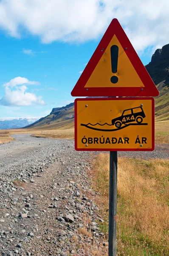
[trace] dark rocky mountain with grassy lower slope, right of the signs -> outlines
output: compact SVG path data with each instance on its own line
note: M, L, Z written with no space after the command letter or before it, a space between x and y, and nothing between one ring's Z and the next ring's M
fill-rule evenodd
M155 97L155 120L169 120L169 44L155 51L146 70L160 91Z

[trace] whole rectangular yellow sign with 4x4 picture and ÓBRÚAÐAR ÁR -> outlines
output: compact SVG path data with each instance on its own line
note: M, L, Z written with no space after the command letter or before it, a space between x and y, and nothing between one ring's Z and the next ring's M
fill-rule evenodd
M153 151L152 97L75 100L75 149Z

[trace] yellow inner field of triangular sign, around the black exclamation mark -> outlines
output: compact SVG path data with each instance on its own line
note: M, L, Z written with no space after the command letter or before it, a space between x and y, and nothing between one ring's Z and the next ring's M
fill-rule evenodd
M118 84L111 82L111 77L114 76L111 67L111 54L110 48L113 45L118 46L118 66L116 76ZM138 73L135 71L128 58L125 50L122 48L118 38L114 35L109 45L105 49L104 54L100 58L97 66L93 70L85 87L144 87Z

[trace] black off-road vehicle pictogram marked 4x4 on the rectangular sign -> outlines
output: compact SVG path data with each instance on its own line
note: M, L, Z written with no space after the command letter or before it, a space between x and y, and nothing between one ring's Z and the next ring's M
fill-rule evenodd
M120 128L122 124L126 124L129 122L137 122L141 124L143 122L143 118L146 117L143 108L129 108L125 109L121 116L112 119L112 125L115 125L116 128Z

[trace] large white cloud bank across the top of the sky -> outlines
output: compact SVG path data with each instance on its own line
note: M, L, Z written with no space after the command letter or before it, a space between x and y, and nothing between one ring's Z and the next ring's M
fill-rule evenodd
M43 43L99 38L113 17L137 51L169 43L168 0L0 1L1 29L15 38L22 37L25 29Z

